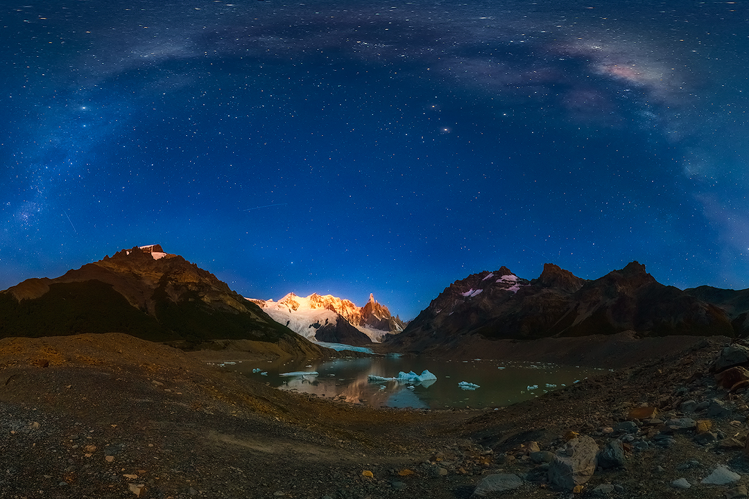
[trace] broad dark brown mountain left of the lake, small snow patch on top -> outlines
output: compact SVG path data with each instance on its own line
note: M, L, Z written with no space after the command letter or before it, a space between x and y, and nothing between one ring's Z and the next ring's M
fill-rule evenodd
M292 334L215 275L159 245L118 251L0 293L0 337L121 332L155 341L276 342Z

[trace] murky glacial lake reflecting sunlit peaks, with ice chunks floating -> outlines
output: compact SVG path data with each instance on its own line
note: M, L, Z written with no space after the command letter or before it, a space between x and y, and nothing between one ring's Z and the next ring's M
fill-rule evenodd
M474 359L443 361L421 357L338 358L314 361L243 361L217 364L267 382L280 390L339 397L347 402L394 408L485 408L510 405L538 397L601 373L584 367L546 363L520 363ZM253 370L255 372L253 372ZM421 374L428 370L436 380L403 382L373 381L369 375L398 377L403 371ZM288 373L295 374L280 376ZM478 385L473 390L458 383Z

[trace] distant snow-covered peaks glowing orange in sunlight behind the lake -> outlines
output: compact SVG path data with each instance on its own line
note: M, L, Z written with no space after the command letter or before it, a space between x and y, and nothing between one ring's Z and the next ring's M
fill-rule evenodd
M276 322L313 341L365 346L379 343L386 334L403 331L404 323L371 293L363 307L331 295L301 297L288 293L279 301L251 300Z

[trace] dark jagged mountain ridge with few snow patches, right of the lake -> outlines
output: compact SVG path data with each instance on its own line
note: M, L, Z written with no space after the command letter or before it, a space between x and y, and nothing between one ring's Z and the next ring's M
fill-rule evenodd
M422 352L471 335L533 340L634 331L641 337L739 337L749 332L748 311L749 290L679 290L658 283L636 261L591 281L552 263L531 281L503 266L455 281L386 342Z

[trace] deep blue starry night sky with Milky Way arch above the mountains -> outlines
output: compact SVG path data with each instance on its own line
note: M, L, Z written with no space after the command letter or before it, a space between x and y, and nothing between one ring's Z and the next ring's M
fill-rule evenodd
M156 243L404 319L503 265L749 287L746 1L0 12L0 289Z

